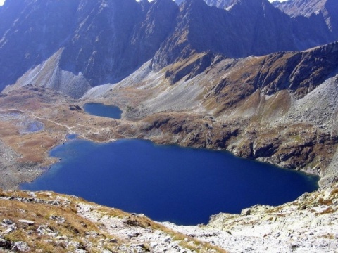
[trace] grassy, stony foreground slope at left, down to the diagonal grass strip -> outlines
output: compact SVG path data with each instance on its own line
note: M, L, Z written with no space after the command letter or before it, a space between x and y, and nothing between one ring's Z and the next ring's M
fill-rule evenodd
M225 252L142 214L78 197L0 193L0 252Z

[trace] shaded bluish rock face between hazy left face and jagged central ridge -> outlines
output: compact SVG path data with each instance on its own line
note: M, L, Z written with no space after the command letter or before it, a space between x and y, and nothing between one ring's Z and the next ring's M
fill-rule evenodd
M82 72L91 86L117 82L136 70L154 56L178 12L168 0L143 7L134 0L82 1L61 68Z

